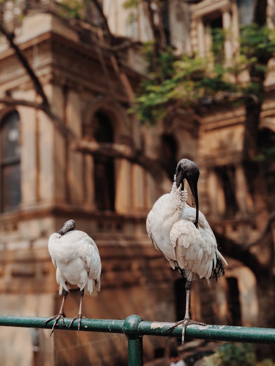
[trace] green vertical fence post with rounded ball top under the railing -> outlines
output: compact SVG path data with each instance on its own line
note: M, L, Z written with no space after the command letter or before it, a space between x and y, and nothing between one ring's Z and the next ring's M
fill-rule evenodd
M138 335L141 321L138 315L130 315L123 322L123 331L128 338L128 366L143 366L142 336Z

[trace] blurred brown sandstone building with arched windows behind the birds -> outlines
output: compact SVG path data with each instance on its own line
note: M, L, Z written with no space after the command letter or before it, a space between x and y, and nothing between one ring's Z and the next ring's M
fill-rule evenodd
M122 2L103 1L110 30L121 41L125 37L150 40L143 9L129 24ZM167 1L162 21L170 44L176 52L203 56L211 47L211 27L230 27L234 37L225 41L230 60L240 18L250 14L241 3L251 10L250 1L204 0L192 6ZM15 10L7 7L6 17L13 19ZM272 1L269 14L272 22ZM119 51L118 67L92 33L91 29L79 32L53 14L39 11L25 16L15 29L15 41L39 77L53 111L83 145L135 146L158 159L171 179L179 159L196 161L201 170L200 209L219 235L221 251L223 238L240 245L254 243L266 229L268 211L260 197L258 202L252 200L244 176L244 108L217 106L197 120L186 112L169 124L140 127L127 109L145 70L141 56L135 47ZM84 40L89 37L87 47ZM98 33L96 40L100 40ZM274 81L272 75L266 81L263 139L275 132ZM0 38L0 95L39 100L4 37ZM64 221L74 219L77 229L96 241L102 258L102 291L96 297L85 296L85 316L124 319L136 313L144 320L168 322L183 318L184 280L159 256L146 233L148 211L162 194L147 171L127 159L77 150L46 114L22 105L0 105L0 141L1 314L47 317L58 312L61 298L47 240ZM256 245L255 251L262 264L270 261L268 243ZM233 258L228 262L225 277L217 283L194 281L193 319L270 326L269 293L259 292L251 268ZM66 316L77 314L78 301L79 293L72 290ZM164 338L144 337L145 359L152 360L166 344ZM123 335L55 331L50 338L48 330L1 328L0 345L3 365L127 364Z

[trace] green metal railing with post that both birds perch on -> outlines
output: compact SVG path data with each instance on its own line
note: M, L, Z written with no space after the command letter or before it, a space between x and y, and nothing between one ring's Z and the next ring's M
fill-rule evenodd
M51 329L54 321L43 324L45 320L47 318L0 316L0 325ZM68 328L70 321L71 319L65 318L63 325L59 320L56 329L77 330L77 322L70 329ZM142 366L142 337L144 335L155 335L181 338L182 326L168 331L171 325L172 323L143 321L138 315L130 315L125 320L82 319L80 330L88 332L124 333L128 339L128 365ZM275 344L275 329L272 328L189 325L186 328L185 334L186 337L213 341Z

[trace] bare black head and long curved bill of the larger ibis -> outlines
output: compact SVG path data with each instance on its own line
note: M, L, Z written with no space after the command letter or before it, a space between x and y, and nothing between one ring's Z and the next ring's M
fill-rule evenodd
M179 187L181 183L182 189L184 189L184 179L187 180L190 186L196 204L196 220L194 222L196 227L198 227L199 217L199 200L197 190L199 175L200 171L196 163L192 162L189 159L182 159L178 162L175 174L176 186Z

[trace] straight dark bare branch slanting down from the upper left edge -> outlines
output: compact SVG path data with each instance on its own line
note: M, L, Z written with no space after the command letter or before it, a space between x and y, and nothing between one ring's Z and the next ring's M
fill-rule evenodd
M25 58L25 56L22 54L22 52L21 52L20 48L18 47L18 45L14 43L13 36L8 33L8 31L5 29L5 27L3 26L3 24L1 22L0 22L0 32L6 37L6 39L9 42L11 48L14 49L19 61L21 62L22 66L26 70L29 77L31 78L31 80L34 84L35 90L41 96L43 104L45 106L49 106L49 102L47 100L47 97L44 93L44 90L42 88L42 85L41 85L38 77L35 75L33 69L29 65L29 63L28 63L27 59Z

